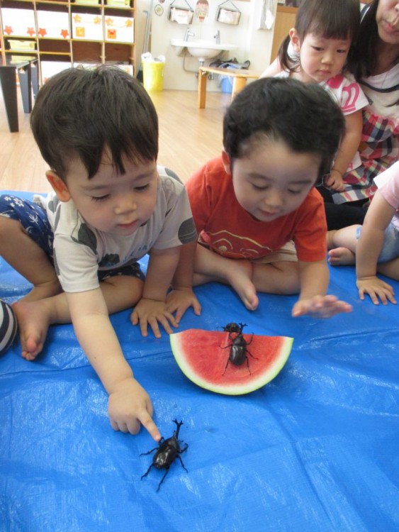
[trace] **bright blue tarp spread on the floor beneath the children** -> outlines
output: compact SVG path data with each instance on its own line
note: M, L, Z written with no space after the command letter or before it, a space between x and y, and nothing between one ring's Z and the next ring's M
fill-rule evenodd
M0 261L12 302L29 285ZM229 287L196 289L202 314L181 330L242 321L295 338L281 373L245 396L196 387L166 333L142 338L129 311L111 316L162 435L184 421L188 472L176 460L159 492L163 470L140 480L154 441L112 430L72 326L52 326L35 362L17 341L0 357L0 531L398 531L398 306L359 301L353 267L330 272L354 310L325 321L291 318L295 297L261 294L250 312Z

